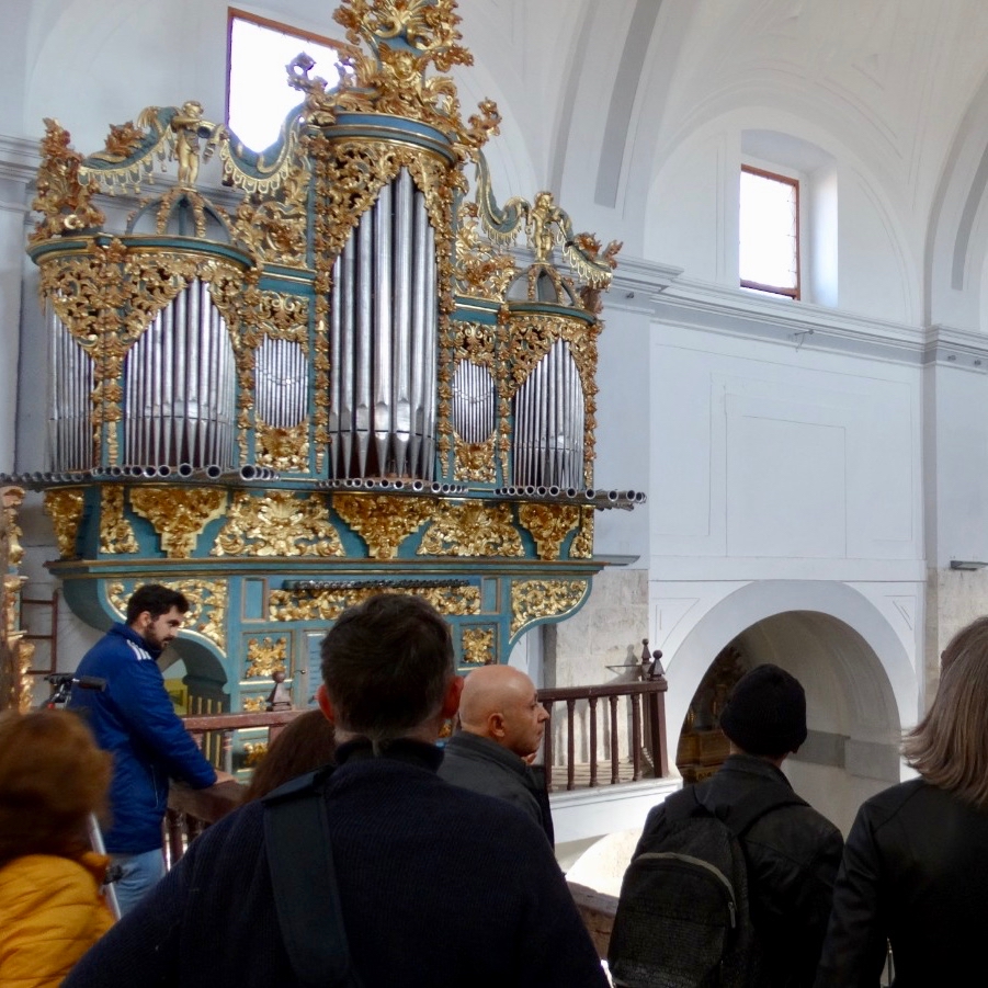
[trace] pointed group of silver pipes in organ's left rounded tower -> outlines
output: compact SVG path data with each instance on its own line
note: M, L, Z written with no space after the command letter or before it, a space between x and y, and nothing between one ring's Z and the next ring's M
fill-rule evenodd
M208 286L193 281L127 354L125 462L232 467L235 422L229 333Z

